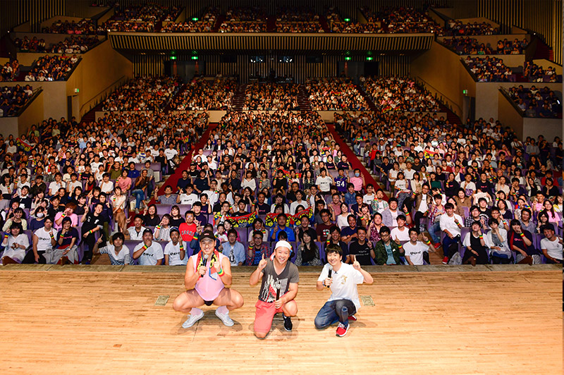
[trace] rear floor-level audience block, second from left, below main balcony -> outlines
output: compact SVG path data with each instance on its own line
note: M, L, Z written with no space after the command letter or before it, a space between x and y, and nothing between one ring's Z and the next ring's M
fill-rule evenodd
M172 107L180 111L231 109L235 90L235 80L193 78L185 85L184 91L174 97Z

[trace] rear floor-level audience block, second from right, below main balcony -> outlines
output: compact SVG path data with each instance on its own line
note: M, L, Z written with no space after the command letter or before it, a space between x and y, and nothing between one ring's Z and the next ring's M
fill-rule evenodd
M369 108L350 78L308 78L305 91L314 111L366 111Z

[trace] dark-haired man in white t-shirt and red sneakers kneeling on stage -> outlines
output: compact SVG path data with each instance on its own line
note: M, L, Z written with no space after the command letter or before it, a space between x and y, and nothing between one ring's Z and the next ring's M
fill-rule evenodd
M343 250L331 244L325 250L327 262L317 278L317 290L331 288L331 297L315 316L315 328L325 328L339 322L337 336L347 334L349 320L356 321L354 315L360 309L357 284L372 284L374 279L370 273L360 268L358 262L346 264L342 262Z

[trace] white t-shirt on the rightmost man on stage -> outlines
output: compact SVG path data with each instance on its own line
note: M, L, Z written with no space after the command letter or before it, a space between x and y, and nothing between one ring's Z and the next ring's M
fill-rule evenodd
M329 263L325 264L317 281L323 282L329 276L329 266L331 266ZM327 302L350 300L353 301L358 311L360 309L360 301L358 300L357 284L364 282L362 273L354 269L351 264L341 263L341 268L338 271L333 270L331 272L331 278L333 278L333 283L331 283L330 287L331 297L329 297Z

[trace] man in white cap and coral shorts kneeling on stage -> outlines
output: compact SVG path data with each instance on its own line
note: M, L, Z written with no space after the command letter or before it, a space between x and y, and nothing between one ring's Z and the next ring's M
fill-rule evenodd
M284 329L292 331L291 316L298 314L295 296L298 294L300 275L298 267L288 262L292 246L287 241L278 241L274 253L268 259L262 256L259 266L251 274L249 283L255 285L262 279L259 300L255 305L255 336L265 338L269 334L272 320L277 312L282 313Z

